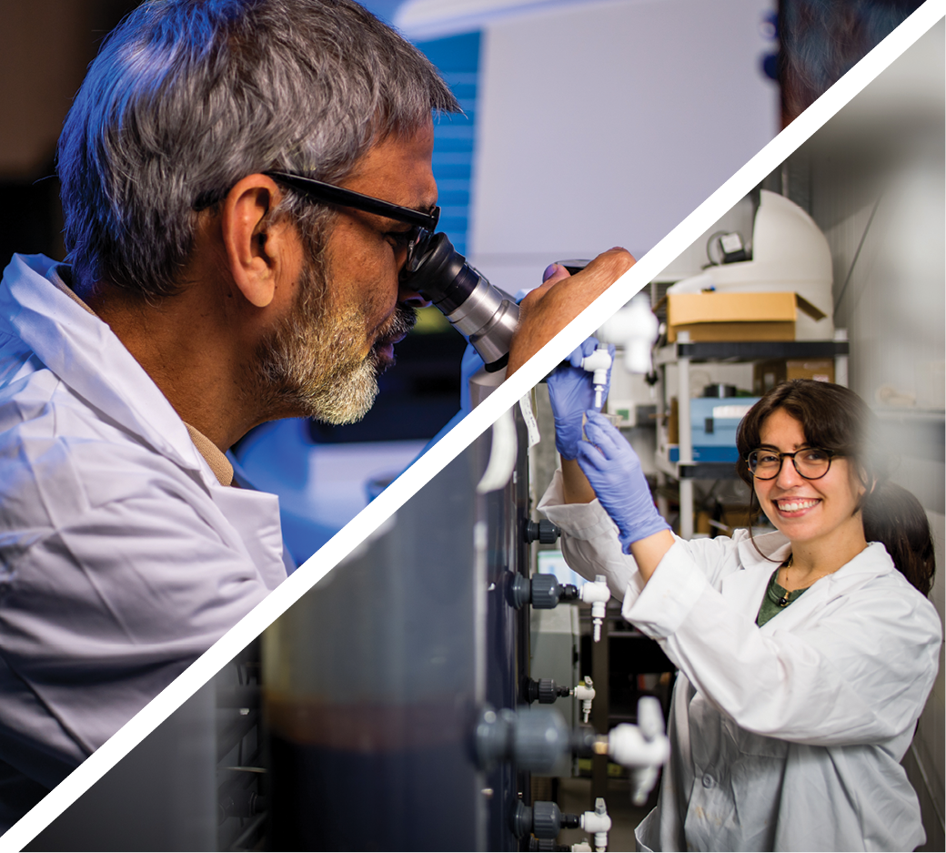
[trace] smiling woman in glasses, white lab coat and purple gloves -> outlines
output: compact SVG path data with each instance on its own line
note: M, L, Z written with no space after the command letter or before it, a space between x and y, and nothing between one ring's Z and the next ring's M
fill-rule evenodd
M549 380L553 409L566 373ZM586 414L588 440L539 508L569 565L605 575L679 667L639 849L921 844L900 761L937 673L933 542L888 482L867 405L826 382L769 391L740 425L738 472L777 530L692 542L660 519L622 435Z

